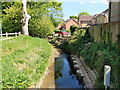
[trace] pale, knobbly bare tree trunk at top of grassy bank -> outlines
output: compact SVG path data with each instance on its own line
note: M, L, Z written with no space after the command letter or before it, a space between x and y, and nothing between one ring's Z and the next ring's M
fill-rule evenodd
M23 18L21 20L21 22L22 22L22 34L23 35L29 35L28 20L30 19L31 16L27 14L26 0L22 0L22 9L23 9Z

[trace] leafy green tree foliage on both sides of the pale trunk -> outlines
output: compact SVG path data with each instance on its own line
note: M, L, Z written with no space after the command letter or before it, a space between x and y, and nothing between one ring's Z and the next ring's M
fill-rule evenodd
M19 2L3 3L2 27L4 32L20 32L22 4ZM29 34L45 38L53 33L54 27L61 21L62 4L58 2L28 2Z

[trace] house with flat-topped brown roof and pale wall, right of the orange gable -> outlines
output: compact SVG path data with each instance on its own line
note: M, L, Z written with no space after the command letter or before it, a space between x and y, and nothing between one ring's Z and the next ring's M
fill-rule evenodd
M79 16L79 28L86 27L91 23L93 16L81 15Z

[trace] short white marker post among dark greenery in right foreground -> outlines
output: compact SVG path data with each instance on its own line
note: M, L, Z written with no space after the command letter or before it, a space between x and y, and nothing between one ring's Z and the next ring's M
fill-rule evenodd
M104 68L104 85L105 85L105 89L107 90L107 87L110 86L110 71L111 71L111 67L108 65L105 65Z

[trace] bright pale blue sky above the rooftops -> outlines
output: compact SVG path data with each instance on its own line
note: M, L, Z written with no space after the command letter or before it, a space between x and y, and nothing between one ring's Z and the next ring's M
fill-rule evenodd
M69 19L69 16L78 16L81 12L87 12L90 15L100 14L108 9L107 0L57 0L62 2L63 19Z

